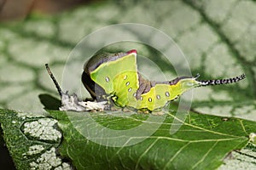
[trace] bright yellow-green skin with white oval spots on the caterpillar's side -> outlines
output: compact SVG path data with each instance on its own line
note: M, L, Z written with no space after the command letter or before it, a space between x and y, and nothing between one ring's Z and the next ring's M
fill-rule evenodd
M149 111L165 106L168 101L200 84L194 77L181 79L173 85L156 83L147 93L137 96L139 77L136 51L102 63L94 71L90 71L90 78L100 85L106 94L113 95L112 99L116 105Z

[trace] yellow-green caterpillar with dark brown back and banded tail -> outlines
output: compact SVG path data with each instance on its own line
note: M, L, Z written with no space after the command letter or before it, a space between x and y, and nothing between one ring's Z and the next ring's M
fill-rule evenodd
M137 51L95 55L84 65L82 82L92 99L106 100L110 96L115 105L137 110L154 111L191 88L228 84L241 81L239 77L199 81L195 77L177 77L172 81L155 82L144 79L137 71Z

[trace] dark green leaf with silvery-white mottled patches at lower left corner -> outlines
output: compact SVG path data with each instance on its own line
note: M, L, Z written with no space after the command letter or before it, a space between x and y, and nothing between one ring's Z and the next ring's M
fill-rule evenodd
M0 109L3 137L17 169L70 167L55 151L62 137L56 122L46 116Z

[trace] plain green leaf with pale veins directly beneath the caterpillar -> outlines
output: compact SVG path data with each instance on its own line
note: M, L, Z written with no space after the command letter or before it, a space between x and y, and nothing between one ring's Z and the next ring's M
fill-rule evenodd
M246 146L248 134L256 132L255 122L190 112L189 118L182 122L183 126L177 133L170 134L173 119L176 118L170 113L164 116L165 121L154 134L142 142L125 146L132 140L143 138L143 134L128 138L124 146L111 147L109 145L112 139L105 139L102 134L96 136L102 137L99 143L84 136L84 132L95 132L93 129L97 128L95 124L88 122L90 118L104 127L125 130L145 123L145 118L149 116L131 114L124 117L120 116L124 114L122 112L49 113L59 120L63 131L61 154L71 158L78 169L214 169L222 164L231 150L240 150ZM154 127L155 122L147 123ZM145 132L147 130L144 129ZM113 140L119 143L123 138L125 137L116 136ZM109 145L104 145L104 140L108 140Z

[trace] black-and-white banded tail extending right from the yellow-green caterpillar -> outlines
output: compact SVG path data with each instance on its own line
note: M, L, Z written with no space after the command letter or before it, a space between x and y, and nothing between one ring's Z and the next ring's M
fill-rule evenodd
M201 81L197 80L197 81L200 82L200 86L209 86L209 85L220 85L220 84L229 84L233 82L239 82L245 78L246 78L245 74L242 74L238 77L233 77L233 78L218 79L218 80L201 80Z

